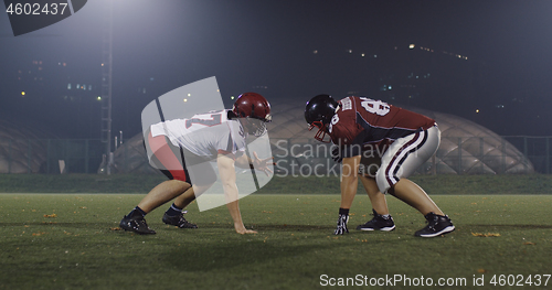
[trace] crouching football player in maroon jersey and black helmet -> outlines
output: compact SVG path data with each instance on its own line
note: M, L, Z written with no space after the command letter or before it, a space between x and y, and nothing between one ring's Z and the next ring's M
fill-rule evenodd
M424 190L407 180L437 151L440 131L435 120L381 100L347 97L336 101L329 95L310 99L305 108L305 119L309 130L318 128L317 140L331 141L336 146L332 157L342 162L341 206L336 235L349 232L349 208L357 194L359 178L372 203L374 217L357 229L395 228L388 210L386 193L425 216L427 226L417 230L415 236L435 237L455 229L450 218Z

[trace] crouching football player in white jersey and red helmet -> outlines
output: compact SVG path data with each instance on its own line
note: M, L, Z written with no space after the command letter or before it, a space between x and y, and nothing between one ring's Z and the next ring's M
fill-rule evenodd
M197 228L183 217L183 208L216 181L216 173L208 162L216 161L224 193L233 201L226 206L236 233L255 234L255 230L246 229L242 221L234 165L253 167L265 173L270 171L272 158L261 160L253 152L254 159L251 160L244 153L247 135L263 136L270 119L268 101L259 94L245 93L236 99L232 110L210 111L152 125L146 132L145 144L149 152L153 152L150 162L169 180L153 187L123 217L120 227L138 234L156 234L147 225L145 215L174 198L162 222L180 228ZM190 167L195 168L189 171Z

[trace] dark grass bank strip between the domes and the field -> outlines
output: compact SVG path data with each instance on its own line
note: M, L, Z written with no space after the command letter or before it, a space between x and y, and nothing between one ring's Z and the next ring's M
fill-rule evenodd
M0 193L147 193L162 174L0 174ZM550 174L414 175L428 194L552 194ZM256 194L339 193L337 176L277 176ZM359 186L359 193L363 193Z

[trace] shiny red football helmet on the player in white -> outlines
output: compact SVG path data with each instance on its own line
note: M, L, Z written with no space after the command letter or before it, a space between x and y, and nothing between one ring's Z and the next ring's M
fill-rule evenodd
M248 133L261 137L266 132L266 123L272 121L270 104L257 93L245 93L237 97L232 108Z

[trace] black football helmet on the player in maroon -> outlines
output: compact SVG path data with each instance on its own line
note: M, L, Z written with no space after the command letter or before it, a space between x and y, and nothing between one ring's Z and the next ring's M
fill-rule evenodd
M338 108L338 103L329 95L318 95L307 101L305 106L305 120L309 125L309 131L317 127L318 132L315 135L315 139L325 143L329 143L331 140L325 140L328 133L328 125L331 121L336 110Z

